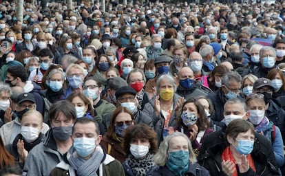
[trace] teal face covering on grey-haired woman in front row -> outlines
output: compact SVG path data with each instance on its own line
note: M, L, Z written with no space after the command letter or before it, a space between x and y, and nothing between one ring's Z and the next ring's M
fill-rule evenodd
M187 172L189 167L189 151L171 151L168 153L169 157L165 165L172 173L183 175Z

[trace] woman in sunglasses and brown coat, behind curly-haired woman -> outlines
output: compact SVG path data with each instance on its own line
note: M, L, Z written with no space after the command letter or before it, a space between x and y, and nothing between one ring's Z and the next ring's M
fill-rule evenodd
M128 126L134 125L134 116L126 107L117 107L112 113L111 121L107 133L101 140L101 146L115 159L124 162L127 158L123 151L123 132Z

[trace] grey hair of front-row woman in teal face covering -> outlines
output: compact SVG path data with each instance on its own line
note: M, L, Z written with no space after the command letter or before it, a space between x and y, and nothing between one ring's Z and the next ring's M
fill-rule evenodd
M169 142L173 137L184 137L185 140L187 140L187 144L188 144L188 151L189 151L189 159L191 164L194 164L197 162L196 159L196 155L193 152L193 148L191 145L191 142L189 140L189 137L187 137L187 135L184 135L184 133L181 132L174 132L171 133L170 135L167 135L167 137L165 137L165 140L163 140L163 142L160 144L160 148L158 150L158 153L156 153L156 155L154 155L154 163L157 164L158 166L165 166L166 162L167 162L167 153L168 153L168 149L169 149Z

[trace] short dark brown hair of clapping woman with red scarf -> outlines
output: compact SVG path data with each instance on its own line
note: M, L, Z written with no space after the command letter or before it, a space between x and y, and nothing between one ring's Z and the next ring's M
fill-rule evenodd
M249 130L251 130L251 132L254 134L255 129L251 122L242 119L235 119L226 127L224 134L225 136L229 135L230 137L235 138L239 133L245 133Z

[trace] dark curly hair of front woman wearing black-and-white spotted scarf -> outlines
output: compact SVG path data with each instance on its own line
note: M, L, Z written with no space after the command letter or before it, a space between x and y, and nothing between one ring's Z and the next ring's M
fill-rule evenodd
M129 147L131 144L131 140L133 139L146 139L149 140L150 148L149 152L156 153L158 149L156 132L147 124L135 124L127 127L125 129L124 134L124 143L123 149L127 155L129 155Z

